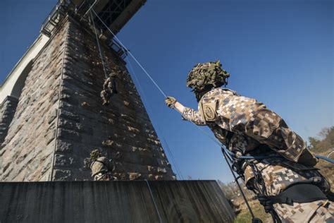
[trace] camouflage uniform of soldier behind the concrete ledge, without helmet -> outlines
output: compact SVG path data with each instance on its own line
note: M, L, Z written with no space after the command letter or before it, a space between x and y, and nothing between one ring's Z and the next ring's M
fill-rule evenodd
M94 181L105 181L111 179L112 164L106 157L99 157L90 164Z

